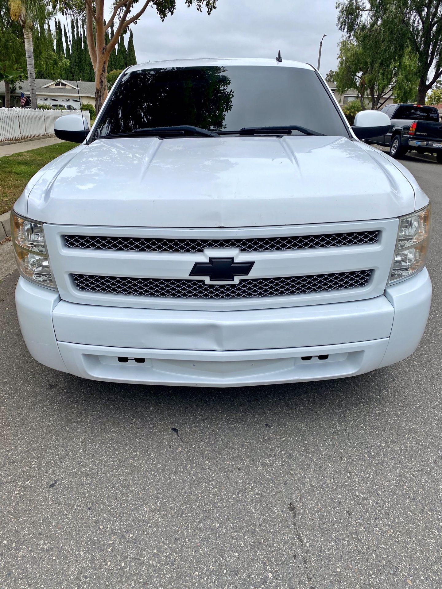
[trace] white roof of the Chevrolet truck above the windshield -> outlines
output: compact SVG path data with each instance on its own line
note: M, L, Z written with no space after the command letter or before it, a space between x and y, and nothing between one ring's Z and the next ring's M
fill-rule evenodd
M132 72L137 70L151 70L156 68L194 68L209 67L213 65L223 65L225 67L232 65L268 65L273 67L302 68L303 70L314 70L309 64L301 61L291 61L283 59L258 59L253 57L225 57L225 58L208 58L208 59L167 59L165 61L148 61L145 64L132 65L126 71Z

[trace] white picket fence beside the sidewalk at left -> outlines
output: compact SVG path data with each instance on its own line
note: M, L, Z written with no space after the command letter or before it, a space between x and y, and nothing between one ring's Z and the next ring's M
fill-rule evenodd
M31 110L29 108L0 108L0 141L15 141L54 134L54 123L58 117L78 114L80 111ZM83 111L89 123L90 113Z

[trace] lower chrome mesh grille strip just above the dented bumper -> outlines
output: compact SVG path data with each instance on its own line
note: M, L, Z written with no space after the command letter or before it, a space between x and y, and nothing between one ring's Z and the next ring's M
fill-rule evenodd
M241 299L319 293L355 289L370 282L372 270L256 278L240 280L238 284L206 284L203 280L174 280L162 278L128 278L123 276L92 276L72 274L78 290L97 293L176 299Z

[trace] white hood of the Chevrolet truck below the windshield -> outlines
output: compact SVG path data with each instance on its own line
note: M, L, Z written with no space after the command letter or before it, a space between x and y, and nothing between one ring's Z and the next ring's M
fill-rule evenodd
M42 168L16 210L57 224L250 227L387 219L414 207L410 182L379 151L299 135L94 141Z

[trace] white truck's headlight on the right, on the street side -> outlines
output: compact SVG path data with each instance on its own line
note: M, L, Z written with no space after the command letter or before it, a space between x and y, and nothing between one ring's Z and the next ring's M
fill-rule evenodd
M407 278L425 266L430 240L431 204L407 217L400 217L390 284Z

